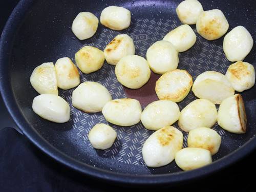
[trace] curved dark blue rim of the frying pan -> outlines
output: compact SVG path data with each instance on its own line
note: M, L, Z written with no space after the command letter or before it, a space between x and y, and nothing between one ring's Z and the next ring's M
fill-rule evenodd
M0 63L9 63L11 59L11 51L13 47L13 40L15 39L16 31L22 24L22 21L33 5L33 0L20 0L17 6L12 11L0 39ZM7 42L11 42L8 43ZM10 82L8 82L8 73L5 73L7 65L0 65L0 93L7 107L8 112L17 124L24 135L42 152L52 157L56 161L70 167L78 172L91 176L93 178L104 181L112 181L115 184L138 184L138 185L152 185L152 184L178 184L181 182L188 182L190 180L199 179L215 173L228 165L242 159L256 148L256 138L253 137L237 150L231 152L227 156L218 159L210 165L205 167L190 170L188 172L177 172L172 174L160 175L129 175L122 173L114 173L109 170L93 167L86 163L82 163L64 153L48 143L42 138L24 118L22 112L19 110L18 104L14 99L14 94Z

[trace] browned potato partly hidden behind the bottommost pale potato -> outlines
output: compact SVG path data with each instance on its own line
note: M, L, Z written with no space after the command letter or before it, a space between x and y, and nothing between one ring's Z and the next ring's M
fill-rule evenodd
M191 130L187 138L188 147L204 148L211 155L217 154L221 145L221 136L208 127Z

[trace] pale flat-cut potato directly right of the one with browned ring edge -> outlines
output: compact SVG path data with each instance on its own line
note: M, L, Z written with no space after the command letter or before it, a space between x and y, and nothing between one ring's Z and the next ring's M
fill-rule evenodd
M234 94L234 89L226 76L216 71L205 71L198 75L192 91L198 98L208 99L215 104L220 104Z

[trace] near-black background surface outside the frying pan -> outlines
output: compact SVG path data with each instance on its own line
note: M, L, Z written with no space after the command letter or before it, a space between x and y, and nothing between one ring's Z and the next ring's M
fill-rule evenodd
M0 0L1 32L17 2ZM120 191L129 187L120 188L74 172L43 154L23 135L8 127L16 125L0 96L0 191ZM255 163L254 152L219 173L176 187L199 191L223 190L223 187L228 187L249 191L254 186Z

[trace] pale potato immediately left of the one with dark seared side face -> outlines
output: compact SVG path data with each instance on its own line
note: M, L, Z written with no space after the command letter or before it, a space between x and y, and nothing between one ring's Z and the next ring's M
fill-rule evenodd
M185 132L198 127L212 127L217 121L217 115L214 103L206 99L196 99L181 110L178 124Z

